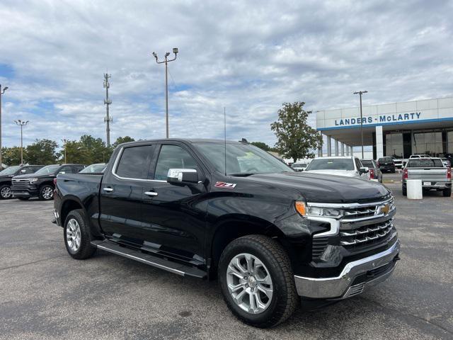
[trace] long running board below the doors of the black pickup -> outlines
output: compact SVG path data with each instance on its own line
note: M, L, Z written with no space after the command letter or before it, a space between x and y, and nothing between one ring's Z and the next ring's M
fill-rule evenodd
M127 248L125 246L120 246L116 242L108 240L95 240L91 241L91 245L96 246L96 248L98 249L108 251L109 253L124 256L127 259L132 259L148 264L149 266L161 268L164 269L164 271L169 271L180 276L193 276L195 278L205 278L207 276L206 272L202 271L201 269L192 266L185 266L183 264L168 261L166 259L161 259L160 257L150 254L144 254L142 253L142 251Z

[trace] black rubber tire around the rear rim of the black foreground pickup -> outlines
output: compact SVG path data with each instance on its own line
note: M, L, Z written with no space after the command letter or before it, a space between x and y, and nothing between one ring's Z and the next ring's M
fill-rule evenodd
M67 238L67 233L69 230L69 221L71 223L72 220L75 220L77 225L79 225L80 230L80 242L79 247L77 249L71 249L69 244L69 240ZM84 260L88 259L89 257L93 256L96 251L96 248L90 244L91 241L91 233L90 227L88 224L88 219L86 218L85 212L82 209L72 210L66 217L64 221L64 245L66 246L66 250L68 251L69 255L72 256L74 259Z

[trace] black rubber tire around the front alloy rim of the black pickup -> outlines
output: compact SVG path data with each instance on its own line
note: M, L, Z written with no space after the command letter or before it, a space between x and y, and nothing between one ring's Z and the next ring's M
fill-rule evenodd
M273 296L268 307L259 314L252 314L241 309L234 302L228 290L226 280L229 263L236 255L243 253L256 256L268 269L272 279ZM218 276L226 305L236 317L246 324L260 328L274 327L288 319L299 304L288 255L282 245L270 237L248 235L232 241L220 256Z

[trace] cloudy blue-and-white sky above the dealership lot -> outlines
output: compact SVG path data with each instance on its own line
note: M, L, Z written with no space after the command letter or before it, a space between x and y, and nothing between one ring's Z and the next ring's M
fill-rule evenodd
M453 1L0 2L3 144L13 120L36 138L105 139L103 74L112 74L112 139L171 137L275 142L285 101L307 110L453 94ZM311 116L314 125L314 115Z

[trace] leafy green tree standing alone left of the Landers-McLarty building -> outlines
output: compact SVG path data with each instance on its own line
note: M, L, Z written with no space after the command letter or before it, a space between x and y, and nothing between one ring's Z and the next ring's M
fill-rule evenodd
M283 103L278 120L270 125L277 137L277 152L294 162L314 157L314 149L323 143L321 135L306 122L311 111L304 111L304 105L303 101Z

